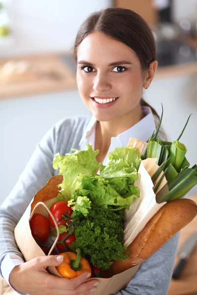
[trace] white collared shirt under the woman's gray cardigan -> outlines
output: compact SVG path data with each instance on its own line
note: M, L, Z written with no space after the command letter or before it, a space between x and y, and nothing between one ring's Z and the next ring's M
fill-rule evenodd
M142 107L142 112L144 114L144 118L142 118L139 122L134 124L129 129L120 133L118 136L111 138L110 147L102 162L103 165L106 165L108 163L108 156L111 151L113 151L115 148L127 147L130 137L137 138L144 142L148 142L153 131L156 129L155 121L150 107ZM93 150L95 150L96 126L97 119L93 116L90 119L84 131L84 134L79 142L80 150L83 150L85 145L87 144L92 145Z

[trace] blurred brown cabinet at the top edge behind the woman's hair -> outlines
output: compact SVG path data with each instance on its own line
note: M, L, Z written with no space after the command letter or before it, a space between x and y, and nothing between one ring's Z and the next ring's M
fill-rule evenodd
M158 12L153 0L113 0L114 7L135 11L153 28L158 22Z

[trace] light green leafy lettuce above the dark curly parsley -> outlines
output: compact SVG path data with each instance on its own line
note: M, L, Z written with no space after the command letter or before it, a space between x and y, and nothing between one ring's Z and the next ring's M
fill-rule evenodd
M141 159L138 150L132 147L116 148L109 154L110 162L99 164L91 145L84 150L72 149L73 153L55 155L53 167L64 177L60 184L61 195L73 205L73 210L88 214L92 205L110 207L113 210L129 208L133 198L139 197L139 190L133 186ZM100 175L95 171L100 166ZM55 200L56 202L56 200ZM91 205L92 204L92 205Z

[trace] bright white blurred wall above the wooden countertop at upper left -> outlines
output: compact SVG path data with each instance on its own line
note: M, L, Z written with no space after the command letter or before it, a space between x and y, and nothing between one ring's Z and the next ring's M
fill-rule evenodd
M69 50L77 29L111 0L17 0L8 6L15 43L0 47L0 57Z

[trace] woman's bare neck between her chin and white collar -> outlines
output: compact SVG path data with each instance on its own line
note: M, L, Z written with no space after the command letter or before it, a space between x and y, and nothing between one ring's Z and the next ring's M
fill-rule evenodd
M131 128L138 121L143 118L143 112L140 104L138 104L131 112L115 118L111 121L98 121L96 128L96 137L99 138L99 148L100 152L106 152L110 146L111 137L116 137L125 130ZM96 142L98 142L96 139Z

